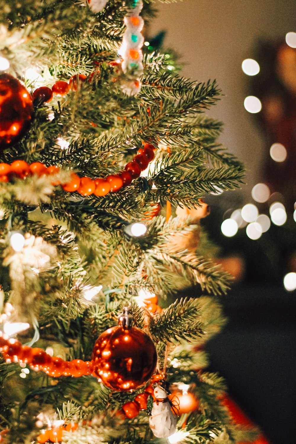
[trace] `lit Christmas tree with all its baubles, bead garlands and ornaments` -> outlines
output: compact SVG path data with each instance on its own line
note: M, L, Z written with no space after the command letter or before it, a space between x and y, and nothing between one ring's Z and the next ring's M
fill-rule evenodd
M231 277L202 198L244 175L216 82L144 50L150 2L1 6L0 441L252 440L205 370Z

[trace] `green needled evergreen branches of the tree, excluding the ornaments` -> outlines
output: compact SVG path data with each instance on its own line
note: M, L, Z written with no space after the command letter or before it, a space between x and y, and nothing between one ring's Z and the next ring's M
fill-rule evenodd
M158 205L198 209L205 194L241 185L241 163L217 143L221 122L201 114L221 91L216 81L178 75L169 53L146 52L139 95L124 95L108 62L117 58L129 2L109 0L98 14L81 3L0 1L1 56L30 92L37 80L29 78L28 68L49 87L95 71L77 91L35 103L29 131L0 152L0 162L58 165L55 179L65 182L71 171L91 178L118 173L144 142L154 145L155 158L146 177L103 197L66 193L48 176L0 182L0 313L9 301L12 321L30 323L19 336L23 343L50 346L65 360L89 360L97 337L117 325L122 306L129 305L135 324L155 342L158 370L173 386L189 384L199 400L199 410L178 422L181 441L241 442L253 435L233 424L219 400L225 382L203 370L207 356L196 349L224 323L216 296L226 293L231 277L206 258L207 247L210 254L214 248L199 223L155 216ZM143 17L152 15L146 0ZM60 138L67 142L64 149ZM136 221L147 226L138 238L128 232ZM201 253L172 249L172 234L196 230ZM26 238L20 251L10 246L12 232ZM174 301L188 285L196 286L197 297ZM169 306L151 315L139 301L140 289ZM48 420L78 422L77 430L64 432L63 443L163 442L154 439L146 412L130 420L118 415L143 388L118 393L92 376L51 378L30 371L21 379L20 371L18 364L0 361L0 425L9 429L7 442L35 443L38 418L45 428Z

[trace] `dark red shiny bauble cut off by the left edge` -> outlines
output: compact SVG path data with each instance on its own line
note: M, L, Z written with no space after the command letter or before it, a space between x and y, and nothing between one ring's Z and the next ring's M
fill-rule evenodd
M0 148L20 140L33 116L31 95L18 79L0 74Z

